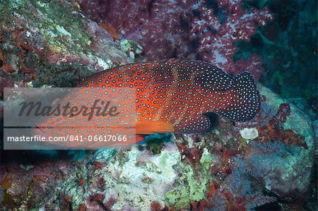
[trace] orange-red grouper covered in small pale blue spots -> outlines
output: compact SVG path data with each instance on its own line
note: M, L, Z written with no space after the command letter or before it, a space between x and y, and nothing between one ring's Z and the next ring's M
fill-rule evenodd
M232 121L248 121L260 108L259 92L251 73L245 71L232 77L205 61L170 59L128 64L90 76L79 87L134 88L136 142L151 133L208 131L211 121L204 115L208 112ZM83 90L78 90L75 96L80 94L84 99L91 95L81 93ZM75 101L76 97L72 100ZM67 99L68 102L72 100ZM50 133L54 128L54 123L50 122L56 123L57 118L42 121L41 126L50 128L40 133ZM69 124L71 119L65 116L61 121ZM77 121L83 123L83 118L79 116ZM102 122L94 132L101 130ZM92 133L91 130L88 128L85 133ZM71 133L71 129L63 128L59 132L63 135ZM84 133L83 130L81 133ZM100 134L107 135L107 132Z

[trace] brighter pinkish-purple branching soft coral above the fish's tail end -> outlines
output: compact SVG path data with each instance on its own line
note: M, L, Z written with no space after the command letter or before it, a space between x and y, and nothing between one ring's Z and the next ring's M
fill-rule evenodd
M250 56L249 60L234 61L237 52L235 42L249 39L256 32L256 25L265 25L273 16L266 8L245 10L242 0L219 0L218 11L212 8L200 8L200 16L192 21L190 35L192 40L199 40L197 52L202 59L216 64L228 73L236 75L242 71L250 71L257 80L263 68L261 58Z

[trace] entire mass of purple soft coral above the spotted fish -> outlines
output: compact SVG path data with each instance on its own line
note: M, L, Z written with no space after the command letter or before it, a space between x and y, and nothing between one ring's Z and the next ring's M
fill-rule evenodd
M165 0L78 2L93 20L107 22L121 37L139 42L147 59L203 59L233 75L250 71L256 80L264 71L257 54L237 61L233 56L237 51L235 42L249 42L256 25L273 19L266 8L247 9L242 1L225 0L213 5L206 1ZM193 51L198 54L193 55Z

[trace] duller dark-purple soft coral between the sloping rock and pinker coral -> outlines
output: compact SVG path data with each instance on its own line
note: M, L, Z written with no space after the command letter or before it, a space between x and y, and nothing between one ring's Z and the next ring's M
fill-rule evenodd
M119 36L143 46L148 59L189 56L187 21L193 1L80 1L82 10L96 22L107 22ZM105 6L107 5L107 6Z

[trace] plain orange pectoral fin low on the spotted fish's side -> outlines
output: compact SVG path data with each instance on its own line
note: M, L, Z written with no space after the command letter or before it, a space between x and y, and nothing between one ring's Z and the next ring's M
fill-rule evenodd
M137 121L136 134L172 133L173 126L165 121Z

